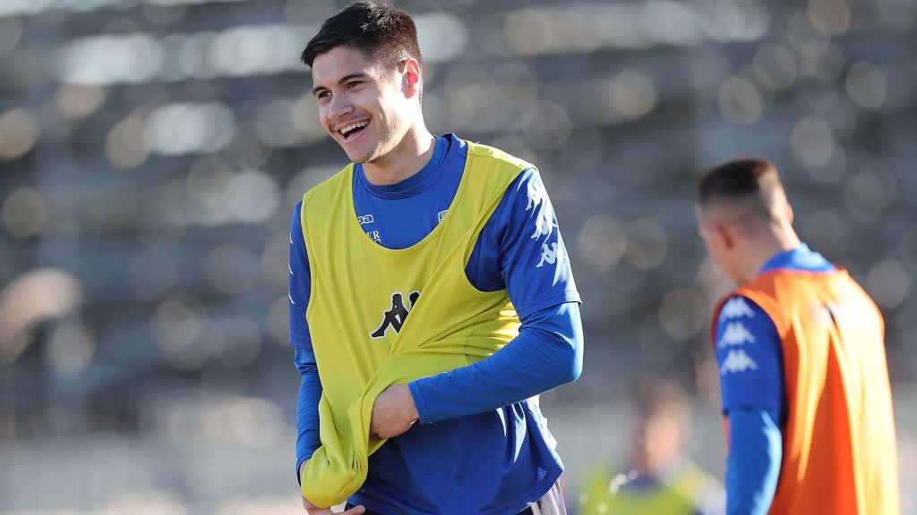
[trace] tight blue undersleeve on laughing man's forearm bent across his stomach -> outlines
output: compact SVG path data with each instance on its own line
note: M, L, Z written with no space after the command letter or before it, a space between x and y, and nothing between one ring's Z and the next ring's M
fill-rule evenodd
M582 370L580 305L565 302L529 315L493 356L409 384L421 423L496 410L575 381Z

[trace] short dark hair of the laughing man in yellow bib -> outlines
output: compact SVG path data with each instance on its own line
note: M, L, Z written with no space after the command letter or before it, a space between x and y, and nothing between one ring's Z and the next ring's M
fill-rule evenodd
M383 60L386 64L409 58L423 64L414 19L391 5L349 5L325 20L300 59L311 67L315 57L337 47L357 49L367 60Z

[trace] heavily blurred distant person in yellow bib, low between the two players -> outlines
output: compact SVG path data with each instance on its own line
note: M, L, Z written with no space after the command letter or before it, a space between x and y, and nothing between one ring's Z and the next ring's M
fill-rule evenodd
M723 486L682 453L691 433L690 401L668 381L637 385L629 472L602 464L586 478L580 515L714 515Z

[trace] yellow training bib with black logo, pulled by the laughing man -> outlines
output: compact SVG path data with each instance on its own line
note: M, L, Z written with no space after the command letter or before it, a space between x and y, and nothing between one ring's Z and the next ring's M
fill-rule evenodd
M317 506L343 502L367 477L372 406L382 390L468 366L519 333L506 290L482 292L465 266L503 193L532 165L468 144L462 180L446 216L423 240L381 247L359 225L353 164L303 199L312 276L306 320L322 398L322 445L304 468L303 495ZM410 317L408 314L410 313Z

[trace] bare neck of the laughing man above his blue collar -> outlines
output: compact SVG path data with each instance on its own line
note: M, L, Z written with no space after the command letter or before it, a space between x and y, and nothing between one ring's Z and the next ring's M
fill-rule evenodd
M412 128L392 151L363 164L367 181L377 186L404 181L433 159L436 137L425 126Z

